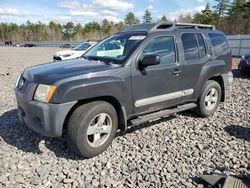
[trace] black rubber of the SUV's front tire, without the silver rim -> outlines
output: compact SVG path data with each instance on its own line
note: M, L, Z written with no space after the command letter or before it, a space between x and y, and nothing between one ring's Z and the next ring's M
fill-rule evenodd
M87 136L87 130L90 123L95 121L98 114L103 113L107 114L107 117L109 117L112 122L111 132L106 136L106 141L100 147L92 147L89 137ZM95 101L79 106L75 109L69 119L68 147L85 158L95 157L105 151L112 143L117 127L117 113L110 103L105 101Z

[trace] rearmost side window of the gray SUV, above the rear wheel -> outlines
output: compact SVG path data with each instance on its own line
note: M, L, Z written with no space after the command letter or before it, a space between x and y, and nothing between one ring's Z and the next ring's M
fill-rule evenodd
M209 33L208 36L211 39L215 54L218 54L221 51L228 51L229 45L226 37L223 34Z

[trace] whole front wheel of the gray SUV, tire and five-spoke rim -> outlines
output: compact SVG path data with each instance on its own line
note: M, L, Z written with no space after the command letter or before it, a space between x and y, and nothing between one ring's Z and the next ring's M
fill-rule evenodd
M105 101L79 106L68 124L68 146L86 158L95 157L111 144L118 127L115 108Z

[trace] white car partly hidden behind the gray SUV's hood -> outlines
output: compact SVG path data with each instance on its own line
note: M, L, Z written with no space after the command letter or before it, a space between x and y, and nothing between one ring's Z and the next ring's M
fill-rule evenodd
M61 61L61 60L69 60L69 59L76 59L81 57L88 49L92 48L97 42L84 42L79 44L73 49L70 50L63 50L56 52L53 55L54 61Z

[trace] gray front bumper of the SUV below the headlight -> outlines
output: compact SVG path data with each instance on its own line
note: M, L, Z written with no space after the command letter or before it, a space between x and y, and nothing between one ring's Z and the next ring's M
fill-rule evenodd
M22 103L18 98L17 102L20 121L35 132L49 137L62 136L65 118L76 104L46 104L34 100Z

